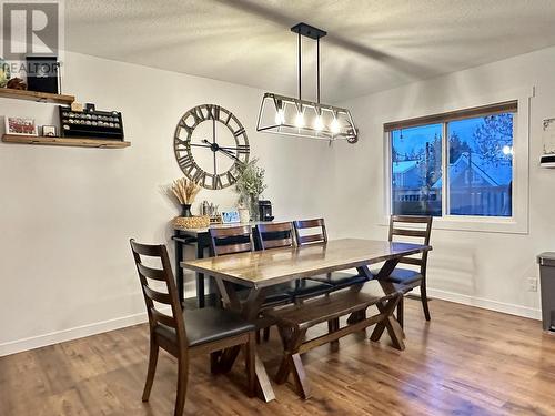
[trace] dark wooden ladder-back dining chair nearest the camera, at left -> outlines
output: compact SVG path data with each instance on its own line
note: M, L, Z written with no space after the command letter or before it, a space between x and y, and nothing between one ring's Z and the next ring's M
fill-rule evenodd
M248 394L252 397L255 390L255 326L230 311L214 307L182 311L165 246L140 244L133 239L130 243L150 326L149 369L142 400L149 400L160 348L178 358L174 415L181 416L185 405L190 357L232 346L243 347ZM144 257L150 258L149 264L150 262L161 264L161 268L145 265ZM160 292L159 286L162 286L163 292ZM168 310L171 314L168 314Z

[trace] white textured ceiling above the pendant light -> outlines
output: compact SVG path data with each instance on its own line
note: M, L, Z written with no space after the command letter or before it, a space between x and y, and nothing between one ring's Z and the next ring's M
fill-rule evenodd
M70 51L296 91L304 21L322 40L322 101L391 89L555 44L554 0L67 0ZM315 48L303 43L314 98Z

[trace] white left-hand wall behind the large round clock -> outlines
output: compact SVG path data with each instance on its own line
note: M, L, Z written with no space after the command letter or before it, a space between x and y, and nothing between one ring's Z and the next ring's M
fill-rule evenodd
M258 134L263 91L74 53L67 53L64 68L64 92L122 111L132 145L0 143L0 355L144 318L128 241L167 242L173 250L170 220L179 210L160 187L182 175L173 132L194 105L220 104L240 119L252 155L266 169L264 196L279 217L323 214L333 149ZM53 104L0 99L4 114L39 125L58 119ZM204 199L222 209L235 202L231 190L202 191L198 200Z

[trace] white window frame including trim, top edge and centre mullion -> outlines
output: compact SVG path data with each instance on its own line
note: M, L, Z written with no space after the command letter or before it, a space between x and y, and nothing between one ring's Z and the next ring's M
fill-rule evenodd
M387 224L392 212L392 160L391 131L417 126L432 123L442 123L442 216L434 217L434 227L444 230L460 230L471 232L500 232L500 233L528 233L528 121L529 121L529 100L534 97L534 88L522 89L518 91L498 94L496 97L481 98L480 100L460 103L452 105L451 110L430 112L433 115L413 116L401 119L398 122L383 123L384 134L384 220L383 224ZM507 99L508 98L508 99ZM496 104L488 104L495 102ZM472 104L474 103L474 104ZM450 215L448 207L448 139L447 124L450 121L477 118L494 113L507 112L507 103L516 104L516 112L513 114L513 184L512 184L512 215L511 216L482 216L482 215ZM503 111L503 109L505 109ZM488 112L488 110L493 110ZM511 111L512 112L512 111ZM410 125L412 124L412 125Z

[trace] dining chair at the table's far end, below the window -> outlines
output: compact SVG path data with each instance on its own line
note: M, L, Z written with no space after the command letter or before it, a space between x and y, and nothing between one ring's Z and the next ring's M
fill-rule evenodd
M428 245L432 235L432 221L433 216L420 215L392 215L390 219L389 240L401 241L406 237L412 239L411 242L418 240L418 243ZM406 293L420 286L420 297L422 301L422 308L424 310L424 317L430 321L430 308L427 306L426 293L426 268L427 268L427 253L424 252L416 256L403 257L398 263L416 266L417 270L395 267L393 272L384 278L384 281L400 283L405 286ZM376 272L373 272L374 274ZM404 321L404 302L403 298L397 305L397 321L403 326Z

